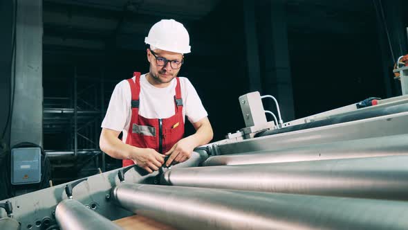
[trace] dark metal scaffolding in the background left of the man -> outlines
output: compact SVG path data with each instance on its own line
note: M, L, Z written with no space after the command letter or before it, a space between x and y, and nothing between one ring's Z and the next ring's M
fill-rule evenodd
M106 80L104 70L98 76L83 76L78 67L73 67L73 80L65 87L68 95L44 96L44 148L53 168L73 167L79 174L89 175L106 170L105 154L99 148L100 125L106 105L117 81ZM44 79L44 81L51 79ZM106 87L108 85L108 87ZM106 91L105 89L109 89ZM107 94L108 96L106 96ZM53 136L62 137L50 148Z

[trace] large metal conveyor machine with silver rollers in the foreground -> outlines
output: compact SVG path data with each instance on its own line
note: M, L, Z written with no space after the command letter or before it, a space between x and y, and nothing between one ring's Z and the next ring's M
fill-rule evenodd
M268 97L241 96L246 127L171 168L3 200L0 229L408 229L408 96L287 123Z

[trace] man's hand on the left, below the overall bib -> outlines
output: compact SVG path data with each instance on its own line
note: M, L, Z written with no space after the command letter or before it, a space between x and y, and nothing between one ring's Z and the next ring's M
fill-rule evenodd
M152 148L142 148L133 157L132 160L149 173L157 171L165 163L165 155L156 152Z

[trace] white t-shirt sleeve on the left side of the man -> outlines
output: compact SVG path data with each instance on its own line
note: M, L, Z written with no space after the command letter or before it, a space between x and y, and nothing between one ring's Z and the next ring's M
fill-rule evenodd
M127 80L119 82L113 89L111 100L101 127L121 132L127 123L130 107L130 86Z

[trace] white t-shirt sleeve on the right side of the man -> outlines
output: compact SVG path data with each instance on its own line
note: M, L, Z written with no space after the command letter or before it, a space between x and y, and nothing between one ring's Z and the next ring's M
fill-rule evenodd
M185 78L185 87L186 87L186 98L185 98L185 116L187 116L189 122L196 123L200 121L205 116L208 116L207 111L201 103L201 99L197 94L196 89L192 83Z

